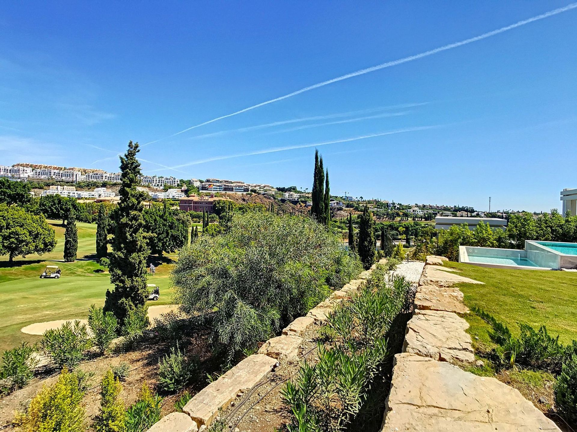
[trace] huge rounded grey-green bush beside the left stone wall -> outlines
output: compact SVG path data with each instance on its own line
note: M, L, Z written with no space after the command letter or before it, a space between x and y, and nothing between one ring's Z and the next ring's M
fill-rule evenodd
M309 218L234 214L220 236L182 249L175 301L210 319L227 361L302 316L361 270L336 234Z

